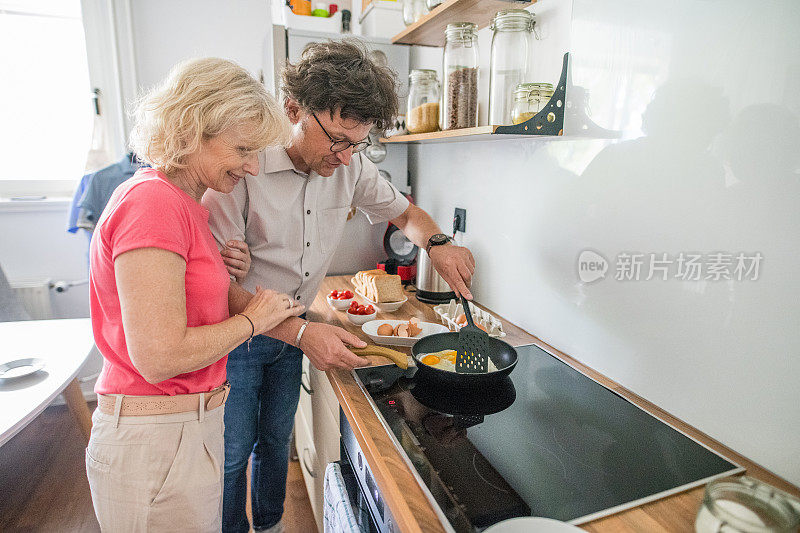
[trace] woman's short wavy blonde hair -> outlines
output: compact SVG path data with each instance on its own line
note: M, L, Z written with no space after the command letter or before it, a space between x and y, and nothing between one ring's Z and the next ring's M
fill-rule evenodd
M205 138L250 127L253 148L289 141L283 109L264 86L232 61L215 57L178 63L134 104L130 147L140 160L169 173Z

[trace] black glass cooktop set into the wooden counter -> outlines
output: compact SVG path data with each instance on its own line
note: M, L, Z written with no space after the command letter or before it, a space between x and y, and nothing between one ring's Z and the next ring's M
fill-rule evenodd
M529 515L580 524L742 470L537 346L517 353L492 390L355 370L456 531Z

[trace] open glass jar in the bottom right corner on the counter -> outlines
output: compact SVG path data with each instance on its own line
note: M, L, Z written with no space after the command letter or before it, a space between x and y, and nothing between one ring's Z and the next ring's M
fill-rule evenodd
M789 533L800 528L800 500L749 476L706 486L697 533Z

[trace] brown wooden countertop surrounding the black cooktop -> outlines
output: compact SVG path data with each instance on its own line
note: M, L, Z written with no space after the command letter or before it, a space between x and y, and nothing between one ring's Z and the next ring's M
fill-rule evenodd
M329 276L325 278L316 299L308 310L310 320L327 322L342 326L351 333L369 342L369 338L361 331L360 326L355 326L347 320L343 311L331 309L326 301L326 295L334 289L349 288L350 276ZM378 313L378 319L407 319L412 316L428 322L439 322L438 316L433 312L433 306L417 301L413 293L407 293L408 302L393 313ZM480 306L483 307L483 306ZM579 363L566 354L541 341L530 333L518 328L505 320L497 313L492 312L503 322L506 337L503 339L513 346L523 344L536 344L549 353L555 355L571 367L601 383L605 387L617 392L632 403L638 405L656 418L672 425L695 440L705 444L712 450L728 457L742 465L749 476L761 479L790 494L800 497L800 489L784 479L772 474L758 466L742 455L734 452L697 429L683 423L666 411L663 411L628 391L624 387L595 372L589 367ZM410 349L393 347L411 353ZM383 358L371 358L375 364L386 364ZM434 533L444 532L431 504L417 483L411 470L406 465L400 452L395 448L391 438L381 425L367 397L359 388L350 372L345 370L332 370L327 372L333 390L339 400L353 432L356 435L364 458L369 463L375 481L380 488L384 499L397 521L397 525L404 533ZM648 503L627 511L623 511L605 518L588 522L580 527L592 532L637 532L637 531L694 531L694 519L703 498L703 487L682 492L658 501Z

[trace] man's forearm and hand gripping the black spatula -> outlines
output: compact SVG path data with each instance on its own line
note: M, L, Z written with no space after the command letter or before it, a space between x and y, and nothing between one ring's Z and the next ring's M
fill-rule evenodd
M443 233L428 213L413 204L391 222L423 250L432 235ZM428 255L436 271L450 285L456 296L463 294L467 300L472 300L472 293L469 291L475 273L472 253L463 246L444 244L433 246Z

